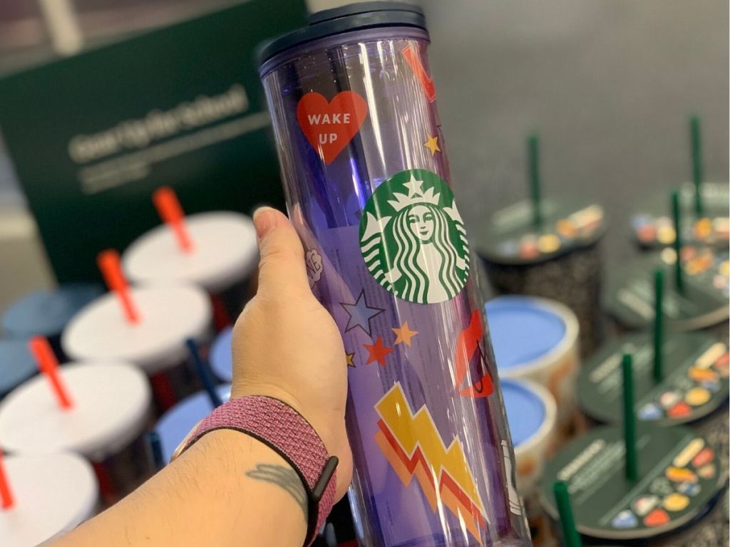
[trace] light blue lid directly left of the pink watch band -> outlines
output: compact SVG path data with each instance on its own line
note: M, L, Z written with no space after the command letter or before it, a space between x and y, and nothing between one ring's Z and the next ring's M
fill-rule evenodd
M215 388L220 399L225 403L231 398L231 384L224 384ZM195 424L213 411L210 397L204 391L199 391L190 397L185 397L180 403L170 408L155 425L155 431L160 437L162 459L170 461L177 445L183 442L185 435L193 429Z

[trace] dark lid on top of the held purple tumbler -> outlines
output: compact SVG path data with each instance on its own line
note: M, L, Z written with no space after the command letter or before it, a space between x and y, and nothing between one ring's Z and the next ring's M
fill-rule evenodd
M278 36L262 45L258 51L258 65L261 72L264 72L262 70L264 63L274 55L326 36L384 26L412 26L426 30L423 9L412 4L391 1L358 2L325 9L312 13L308 21L309 26Z

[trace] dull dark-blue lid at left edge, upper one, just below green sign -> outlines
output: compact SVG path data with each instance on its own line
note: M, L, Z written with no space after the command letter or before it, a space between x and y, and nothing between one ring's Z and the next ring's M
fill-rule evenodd
M104 293L101 285L64 284L17 300L2 318L4 333L15 338L56 336L86 304Z

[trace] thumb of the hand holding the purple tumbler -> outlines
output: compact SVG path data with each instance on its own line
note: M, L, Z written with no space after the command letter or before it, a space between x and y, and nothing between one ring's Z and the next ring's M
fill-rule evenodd
M277 209L260 207L253 224L261 254L258 292L284 298L309 294L304 248L289 219Z

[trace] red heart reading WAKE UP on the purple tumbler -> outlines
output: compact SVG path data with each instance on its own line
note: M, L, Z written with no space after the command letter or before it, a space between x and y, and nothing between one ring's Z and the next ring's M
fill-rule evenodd
M354 91L342 91L329 102L320 93L307 93L296 106L301 131L325 165L332 163L360 131L367 117L365 99Z

